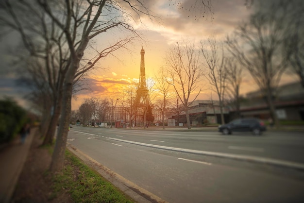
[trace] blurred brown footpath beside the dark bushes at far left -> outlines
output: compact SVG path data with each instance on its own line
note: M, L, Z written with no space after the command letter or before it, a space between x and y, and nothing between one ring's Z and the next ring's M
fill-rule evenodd
M36 130L31 129L24 144L20 143L20 136L17 136L0 151L0 203L9 203L11 200Z

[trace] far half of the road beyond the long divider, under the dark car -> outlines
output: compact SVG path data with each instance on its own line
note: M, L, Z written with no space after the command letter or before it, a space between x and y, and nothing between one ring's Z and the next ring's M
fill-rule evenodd
M90 129L91 135L94 133L98 134L101 131L102 135L106 134L107 137L122 136L125 140L147 144L154 144L155 141L153 140L158 140L158 145L168 147L251 155L304 163L304 156L302 156L304 154L303 136L224 136L218 132L204 132L202 134L202 132L145 132L143 130Z

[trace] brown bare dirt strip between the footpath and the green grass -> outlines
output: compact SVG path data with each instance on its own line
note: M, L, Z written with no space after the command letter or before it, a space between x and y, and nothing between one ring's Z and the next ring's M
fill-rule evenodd
M51 164L51 154L41 147L42 139L34 136L27 160L21 171L17 187L12 197L14 203L71 203L67 192L54 195L52 180L47 171Z

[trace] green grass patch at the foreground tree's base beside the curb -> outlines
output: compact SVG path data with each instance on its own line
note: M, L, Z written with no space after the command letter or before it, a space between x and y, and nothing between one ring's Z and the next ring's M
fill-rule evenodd
M105 180L98 172L84 165L80 159L66 151L62 173L53 177L53 192L49 199L65 190L75 203L132 203L122 191Z

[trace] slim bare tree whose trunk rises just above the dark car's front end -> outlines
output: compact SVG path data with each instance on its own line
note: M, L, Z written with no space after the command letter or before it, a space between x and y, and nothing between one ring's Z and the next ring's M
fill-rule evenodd
M221 48L221 54L219 53ZM208 51L208 49L210 51ZM220 119L221 124L225 124L224 113L223 113L223 102L225 96L225 87L227 79L227 60L224 56L223 46L218 45L215 39L208 39L207 45L201 42L201 51L206 61L206 67L209 70L209 74L205 77L209 80L210 84L215 88L215 92L219 97L220 102Z

